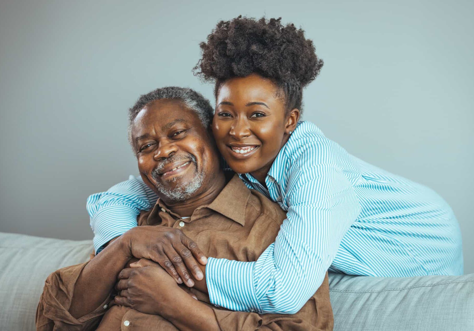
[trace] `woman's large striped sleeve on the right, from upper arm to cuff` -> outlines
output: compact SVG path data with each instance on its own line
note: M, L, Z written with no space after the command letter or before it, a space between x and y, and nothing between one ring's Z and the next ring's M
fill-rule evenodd
M275 243L255 262L209 259L210 301L231 310L295 314L321 285L361 211L344 166L292 166L289 208Z

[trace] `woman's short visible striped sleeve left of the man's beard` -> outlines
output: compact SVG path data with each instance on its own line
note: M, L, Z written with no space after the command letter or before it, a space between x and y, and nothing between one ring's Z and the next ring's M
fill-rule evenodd
M94 250L97 253L111 239L123 235L137 226L140 210L150 209L158 196L143 182L141 177L130 176L107 192L89 196L86 203L94 232Z

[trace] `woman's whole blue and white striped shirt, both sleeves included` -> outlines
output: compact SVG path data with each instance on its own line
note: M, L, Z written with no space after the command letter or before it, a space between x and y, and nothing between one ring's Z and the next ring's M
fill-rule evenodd
M453 211L428 187L351 156L311 122L300 122L276 157L266 188L249 188L287 211L275 243L254 262L209 258L210 301L231 310L294 314L326 270L409 277L463 273ZM137 226L157 197L131 177L87 201L97 251Z

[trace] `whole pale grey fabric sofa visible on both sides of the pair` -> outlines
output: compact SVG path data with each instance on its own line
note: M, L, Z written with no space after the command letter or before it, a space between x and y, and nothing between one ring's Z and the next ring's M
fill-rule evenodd
M35 330L46 277L83 261L92 241L0 233L0 330ZM329 274L335 331L474 331L474 274L380 278Z

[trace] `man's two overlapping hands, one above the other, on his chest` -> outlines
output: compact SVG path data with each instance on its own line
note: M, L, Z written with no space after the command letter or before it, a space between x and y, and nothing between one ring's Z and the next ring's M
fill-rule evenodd
M202 280L204 275L197 261L204 265L207 259L181 230L138 226L127 231L120 240L125 254L140 260L118 274L115 304L145 314L166 315L180 297L197 299L188 288L195 284L190 272L194 279Z

